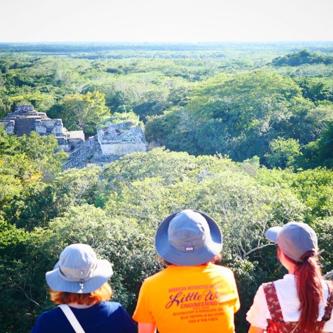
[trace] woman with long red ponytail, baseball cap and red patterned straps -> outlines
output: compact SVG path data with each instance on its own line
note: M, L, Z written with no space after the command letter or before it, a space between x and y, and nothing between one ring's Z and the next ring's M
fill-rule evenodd
M262 284L247 321L249 333L324 333L333 331L333 297L318 264L318 241L305 223L271 227L266 238L278 244L278 259L288 270L283 279Z

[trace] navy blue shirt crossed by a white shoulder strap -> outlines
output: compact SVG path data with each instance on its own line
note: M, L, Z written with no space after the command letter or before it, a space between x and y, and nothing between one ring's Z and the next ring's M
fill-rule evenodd
M86 333L135 333L136 324L116 302L100 302L88 308L71 307ZM31 333L75 333L59 307L41 314Z

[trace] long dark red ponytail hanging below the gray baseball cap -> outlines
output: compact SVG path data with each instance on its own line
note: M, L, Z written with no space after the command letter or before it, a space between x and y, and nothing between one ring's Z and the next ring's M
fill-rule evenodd
M294 275L296 277L297 293L300 300L301 317L299 331L313 332L319 315L319 303L323 299L322 274L317 253L305 252L298 262L284 255L286 259L296 264Z

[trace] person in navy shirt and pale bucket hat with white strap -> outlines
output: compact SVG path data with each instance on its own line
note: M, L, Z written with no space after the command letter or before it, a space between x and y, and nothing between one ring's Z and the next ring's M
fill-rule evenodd
M110 262L98 260L89 245L67 246L46 273L51 300L59 306L41 314L31 333L137 332L121 304L109 301L112 274Z

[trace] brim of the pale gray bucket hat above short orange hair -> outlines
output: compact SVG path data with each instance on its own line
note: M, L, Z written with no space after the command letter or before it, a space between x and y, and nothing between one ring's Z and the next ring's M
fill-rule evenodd
M53 270L46 273L45 278L49 287L56 292L87 294L101 287L109 280L112 274L113 270L111 263L108 260L101 259L97 261L94 276L89 280L84 281L82 285L80 285L79 282L64 280L60 276L58 264L54 266Z

